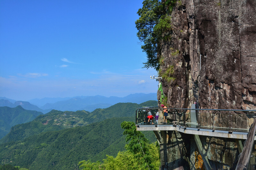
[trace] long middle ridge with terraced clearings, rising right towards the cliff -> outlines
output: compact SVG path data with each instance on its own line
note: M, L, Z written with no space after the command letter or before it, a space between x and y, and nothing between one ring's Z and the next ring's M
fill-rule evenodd
M138 107L156 106L157 101L147 101L141 104L117 103L106 109L96 109L93 112L82 111L57 111L38 116L35 120L19 124L11 128L10 133L0 140L0 143L23 140L31 135L41 132L55 131L76 126L84 126L93 122L100 122L112 117L135 117Z

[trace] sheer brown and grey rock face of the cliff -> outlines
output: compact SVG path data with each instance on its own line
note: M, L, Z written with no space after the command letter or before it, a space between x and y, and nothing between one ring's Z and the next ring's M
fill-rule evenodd
M191 108L197 102L202 109L255 109L256 1L180 0L169 15L173 31L171 40L161 44L164 64L160 66L162 71L174 68L175 79L162 80L167 107ZM210 121L209 116L202 120L205 125ZM225 118L215 121L228 122ZM249 128L250 121L245 114L238 114L232 124ZM197 157L193 137L189 142L182 136L170 141L179 141L182 144L175 147L186 150L177 157L177 165L187 167L184 162L189 164L192 157ZM202 137L201 141L214 169L235 168L239 154L235 140ZM173 142L167 143L167 148ZM200 159L196 160L199 167Z

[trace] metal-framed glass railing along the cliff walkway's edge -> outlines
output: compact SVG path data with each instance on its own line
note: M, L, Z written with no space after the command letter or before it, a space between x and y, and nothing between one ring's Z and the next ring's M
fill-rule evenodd
M193 127L197 129L225 130L237 132L249 132L248 123L252 124L256 110L228 110L228 109L189 109L167 108L167 124L175 126ZM143 107L136 110L136 124L146 125L148 113L162 112L163 108ZM191 121L194 117L194 120ZM247 123L245 123L247 122ZM251 123L250 123L251 122ZM151 125L157 125L154 117ZM158 122L161 124L161 122Z

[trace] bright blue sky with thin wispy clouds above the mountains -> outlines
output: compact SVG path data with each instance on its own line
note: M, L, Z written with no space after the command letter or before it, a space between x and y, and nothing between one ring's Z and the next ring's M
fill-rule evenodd
M0 97L157 92L135 21L143 0L1 0Z

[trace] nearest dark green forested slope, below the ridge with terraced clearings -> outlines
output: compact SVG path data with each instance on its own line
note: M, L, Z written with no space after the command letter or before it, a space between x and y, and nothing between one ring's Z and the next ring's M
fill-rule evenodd
M10 163L30 170L75 169L81 160L102 160L106 154L116 156L125 150L125 136L120 126L123 121L134 121L134 118L111 118L0 144L1 164ZM156 141L153 132L149 138Z

